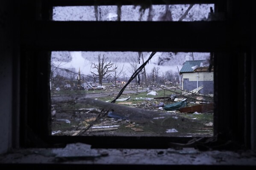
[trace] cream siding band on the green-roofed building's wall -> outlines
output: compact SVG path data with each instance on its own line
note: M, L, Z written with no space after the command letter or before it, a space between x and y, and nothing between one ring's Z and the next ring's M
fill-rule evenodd
M183 73L183 78L189 78L189 81L197 81L197 73L198 81L213 81L213 72Z

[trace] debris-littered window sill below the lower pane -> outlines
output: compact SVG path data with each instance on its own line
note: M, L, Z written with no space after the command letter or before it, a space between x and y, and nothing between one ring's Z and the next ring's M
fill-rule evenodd
M107 167L139 166L150 168L170 166L246 166L255 168L256 153L243 151L199 151L194 148L168 149L91 149L91 145L76 143L65 148L29 148L12 150L0 155L1 166L56 166L57 164ZM79 168L79 167L78 167ZM104 168L104 167L102 167ZM106 168L106 167L105 167Z

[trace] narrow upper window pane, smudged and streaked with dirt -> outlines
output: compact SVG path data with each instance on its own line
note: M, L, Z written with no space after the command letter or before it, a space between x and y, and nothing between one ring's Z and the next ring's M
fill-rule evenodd
M201 21L213 16L214 4L53 7L55 21Z

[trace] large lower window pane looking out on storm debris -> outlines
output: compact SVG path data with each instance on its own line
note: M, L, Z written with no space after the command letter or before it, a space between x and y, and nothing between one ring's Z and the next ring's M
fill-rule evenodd
M212 136L213 58L53 51L52 135Z

